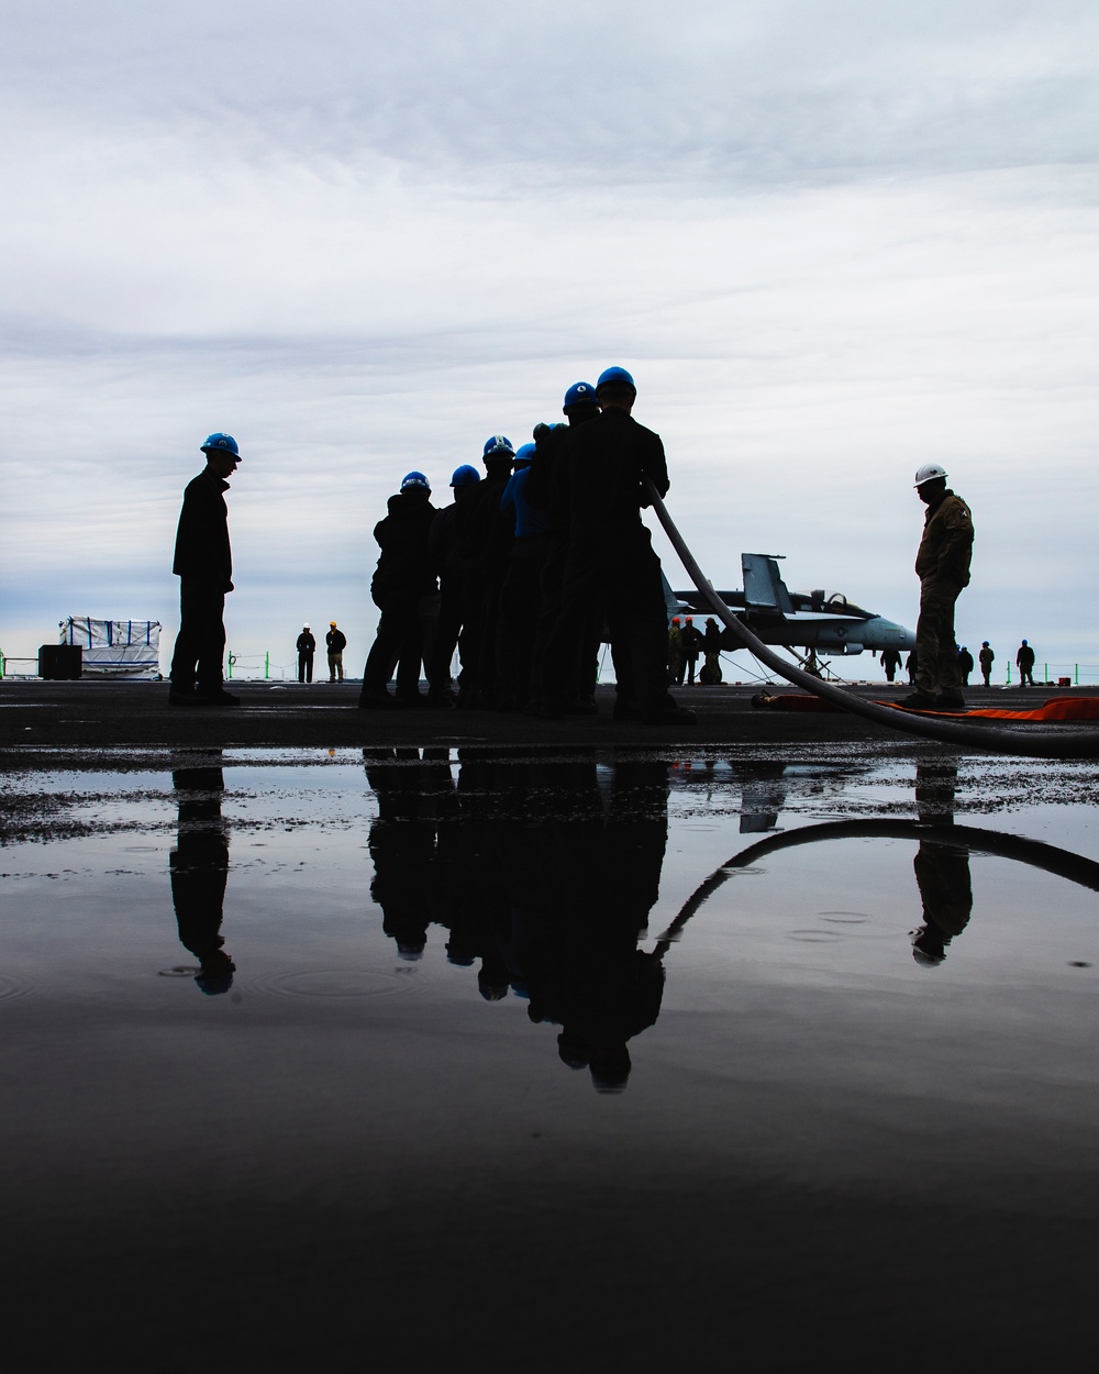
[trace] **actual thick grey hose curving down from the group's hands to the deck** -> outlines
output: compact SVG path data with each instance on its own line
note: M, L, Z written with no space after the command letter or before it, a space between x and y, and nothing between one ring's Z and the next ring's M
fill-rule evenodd
M990 749L996 753L1028 754L1041 758L1096 758L1099 757L1099 731L1074 730L1073 727L1058 725L1055 730L1032 728L1029 725L1015 730L1004 730L997 725L971 725L962 720L947 720L941 716L925 716L918 712L904 710L897 706L886 706L876 701L864 701L852 691L835 687L832 683L813 677L812 673L795 668L786 658L780 658L773 650L758 639L738 620L729 607L714 592L709 581L702 576L702 569L694 559L691 550L676 529L668 507L659 497L657 488L648 477L643 478L646 496L672 545L679 554L687 574L695 584L701 595L709 602L714 616L718 617L725 629L740 643L743 649L754 654L760 662L797 687L804 687L822 701L839 706L841 710L852 716L861 716L872 720L878 725L889 730L900 730L908 735L920 735L925 739L937 739L944 745L964 745L970 749Z

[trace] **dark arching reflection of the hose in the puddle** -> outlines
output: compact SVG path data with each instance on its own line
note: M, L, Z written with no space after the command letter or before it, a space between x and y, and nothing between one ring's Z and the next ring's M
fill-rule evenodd
M923 820L826 820L816 826L802 826L800 830L768 835L723 863L705 882L695 888L676 919L659 936L661 948L666 949L679 938L680 932L699 907L738 870L747 868L760 859L767 859L783 849L813 845L822 840L920 840L937 845L952 845L968 849L970 853L1015 859L1032 868L1040 868L1043 872L1051 872L1069 882L1078 882L1081 888L1099 892L1099 863L1076 855L1070 849L1047 845L1041 840L1008 835L1001 830L982 830L979 826L936 824Z

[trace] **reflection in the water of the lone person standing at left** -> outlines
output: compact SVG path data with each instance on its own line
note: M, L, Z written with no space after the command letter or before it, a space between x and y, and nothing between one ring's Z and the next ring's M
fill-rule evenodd
M221 754L216 756L218 760ZM172 905L180 944L201 963L195 982L210 995L228 992L236 965L225 954L221 916L229 868L229 837L221 820L225 780L220 765L176 768L179 802L176 848L169 855Z

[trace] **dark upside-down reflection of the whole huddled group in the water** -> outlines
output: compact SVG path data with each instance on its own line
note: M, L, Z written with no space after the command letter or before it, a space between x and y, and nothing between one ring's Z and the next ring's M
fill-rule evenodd
M378 797L371 896L401 956L420 958L433 922L446 927L449 963L479 959L488 1002L529 998L532 1021L560 1026L562 1061L621 1091L626 1041L664 995L664 949L640 951L637 936L659 893L668 767L464 750L455 787L445 750L364 760Z

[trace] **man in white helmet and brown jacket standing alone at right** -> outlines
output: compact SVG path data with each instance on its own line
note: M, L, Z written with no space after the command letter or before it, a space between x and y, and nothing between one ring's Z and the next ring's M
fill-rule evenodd
M953 607L970 581L973 515L947 486L947 470L938 463L925 463L918 470L916 492L927 507L916 554L916 690L901 705L915 710L964 710Z

